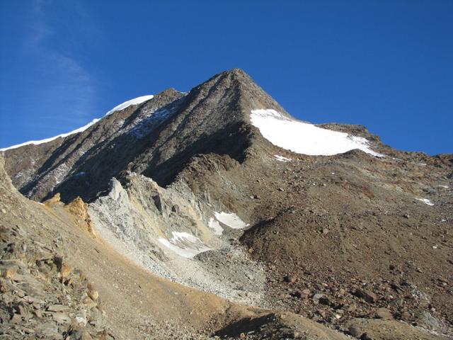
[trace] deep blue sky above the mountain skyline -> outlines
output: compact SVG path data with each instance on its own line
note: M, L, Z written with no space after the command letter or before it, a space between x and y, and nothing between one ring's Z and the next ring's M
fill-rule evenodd
M251 74L289 113L453 152L453 1L0 1L0 147Z

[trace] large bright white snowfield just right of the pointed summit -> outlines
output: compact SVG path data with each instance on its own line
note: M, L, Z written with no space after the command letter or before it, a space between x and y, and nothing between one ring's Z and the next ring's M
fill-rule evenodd
M366 138L290 119L273 109L252 110L250 118L251 123L260 130L265 139L277 147L298 154L331 156L360 149L367 154L382 157L382 154L369 148Z

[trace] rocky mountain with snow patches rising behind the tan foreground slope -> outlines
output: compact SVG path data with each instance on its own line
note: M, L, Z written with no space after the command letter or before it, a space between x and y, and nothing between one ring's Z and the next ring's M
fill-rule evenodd
M239 69L4 157L22 193L81 196L98 237L159 276L357 338L452 334L452 155L295 120Z

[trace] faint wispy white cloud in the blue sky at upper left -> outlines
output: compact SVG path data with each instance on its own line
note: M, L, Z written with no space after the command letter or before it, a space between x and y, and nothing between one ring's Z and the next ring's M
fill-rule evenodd
M80 60L99 32L79 1L33 0L30 6L23 52L35 66L26 102L51 130L71 130L96 115L96 79Z

